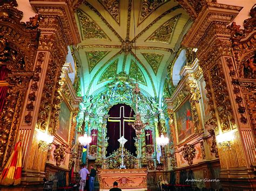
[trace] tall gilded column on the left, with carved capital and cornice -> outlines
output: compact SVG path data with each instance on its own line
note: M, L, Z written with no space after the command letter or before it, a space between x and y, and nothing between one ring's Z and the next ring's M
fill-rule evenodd
M23 170L25 171L23 180L42 181L47 151L39 149L38 135L39 132L48 135L54 135L56 132L59 103L62 101L59 96L60 74L68 54L67 46L78 43L79 35L73 11L68 3L60 1L59 4L54 5L55 3L50 1L45 1L44 4L30 1L30 4L41 16L38 26L41 33L33 63L35 76L31 79L28 93L24 98L19 136L23 137L23 141L27 143L23 147ZM65 27L69 30L63 30ZM71 115L73 114L75 112ZM71 123L75 123L74 117ZM68 149L66 145L57 144L55 153L57 153L57 147L59 153ZM56 165L59 166L60 162L55 153ZM63 160L61 156L58 157L60 161Z

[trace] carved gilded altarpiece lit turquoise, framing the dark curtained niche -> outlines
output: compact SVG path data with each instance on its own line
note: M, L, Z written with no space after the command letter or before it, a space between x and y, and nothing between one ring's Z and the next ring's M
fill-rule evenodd
M109 137L107 137L107 120L110 117L108 112L113 105L126 104L130 105L132 110L135 111L134 95L133 95L134 82L129 79L129 76L120 73L116 79L108 84L105 90L97 95L85 97L83 103L80 105L80 112L78 118L77 129L80 132L86 132L90 135L92 130L97 130L97 149L94 145L89 145L87 152L87 158L89 162L95 162L98 169L116 169L120 166L120 152L121 149L117 149L110 155L107 155L107 147L109 146ZM93 105L93 107L92 107ZM154 133L158 126L158 114L157 114L157 100L153 97L145 96L140 93L138 98L139 112L142 117L142 121L149 122L149 125L145 129L151 130L153 143L152 145L146 145L145 131L142 130L142 134L134 137L134 147L136 148L136 157L129 151L125 150L126 158L131 160L125 160L127 168L142 168L147 167L149 171L156 169L156 149L154 144ZM129 111L130 113L130 111ZM134 116L130 116L134 118ZM92 135L91 135L92 136Z

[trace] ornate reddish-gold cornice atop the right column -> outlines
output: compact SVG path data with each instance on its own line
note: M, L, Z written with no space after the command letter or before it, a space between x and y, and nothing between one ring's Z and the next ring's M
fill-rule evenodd
M238 15L241 9L240 6L208 3L201 10L191 29L184 37L182 45L192 48L197 47L211 23L228 24Z

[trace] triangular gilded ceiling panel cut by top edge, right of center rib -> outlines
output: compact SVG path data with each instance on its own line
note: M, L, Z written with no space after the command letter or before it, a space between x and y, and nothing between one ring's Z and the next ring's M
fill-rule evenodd
M170 0L163 1L148 1L142 0L140 4L138 25L141 24L152 12L154 12L159 6L169 2Z

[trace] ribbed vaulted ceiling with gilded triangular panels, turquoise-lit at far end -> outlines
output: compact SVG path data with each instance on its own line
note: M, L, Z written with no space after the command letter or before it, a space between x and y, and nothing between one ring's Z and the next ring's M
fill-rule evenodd
M191 24L173 0L86 0L77 10L77 22L82 95L98 93L123 72L158 98L167 66Z

